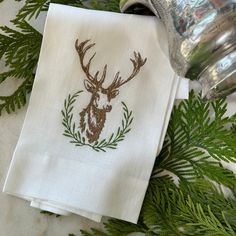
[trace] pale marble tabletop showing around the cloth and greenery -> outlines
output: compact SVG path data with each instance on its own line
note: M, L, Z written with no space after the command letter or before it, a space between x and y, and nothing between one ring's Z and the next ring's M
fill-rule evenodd
M0 3L0 25L9 25L23 2L5 0ZM37 22L31 22L42 32L45 21L43 14ZM4 69L0 63L0 72ZM16 79L4 82L0 86L0 95L7 95L14 91L19 84ZM236 94L228 98L228 114L236 112ZM0 189L17 143L27 106L10 115L3 112L0 117ZM228 165L236 170L235 165ZM67 236L68 233L80 235L80 229L101 227L85 218L72 215L59 217L43 215L39 210L29 206L29 202L0 192L0 236Z

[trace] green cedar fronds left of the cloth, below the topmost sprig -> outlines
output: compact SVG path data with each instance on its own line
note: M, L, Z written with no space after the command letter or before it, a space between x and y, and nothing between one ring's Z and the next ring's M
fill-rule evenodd
M8 78L21 78L24 82L9 96L0 97L0 115L26 104L26 95L31 92L33 75L38 62L42 35L27 22L12 21L18 30L0 27L0 59L4 57L8 71L0 73L0 84Z

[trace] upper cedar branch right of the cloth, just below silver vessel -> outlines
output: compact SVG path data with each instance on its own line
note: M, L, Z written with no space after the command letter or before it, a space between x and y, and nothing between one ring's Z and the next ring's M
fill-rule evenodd
M207 103L193 91L189 100L174 107L153 177L167 170L182 181L208 176L217 183L235 187L235 174L220 163L236 161L236 134L227 128L235 124L236 116L225 117L226 109L225 100Z

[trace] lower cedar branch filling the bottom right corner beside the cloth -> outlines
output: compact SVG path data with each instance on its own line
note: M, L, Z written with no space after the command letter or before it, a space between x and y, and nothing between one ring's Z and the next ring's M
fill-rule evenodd
M215 207L217 203L218 207ZM219 204L219 205L218 205ZM236 202L226 199L207 180L180 184L178 188L166 177L152 179L137 225L109 220L105 231L82 231L84 236L145 235L230 236L236 233Z

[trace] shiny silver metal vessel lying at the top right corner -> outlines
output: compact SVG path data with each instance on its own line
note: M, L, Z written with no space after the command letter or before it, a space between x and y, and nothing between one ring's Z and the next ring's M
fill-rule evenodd
M145 5L164 23L173 69L197 79L207 99L236 91L236 0L121 0Z

